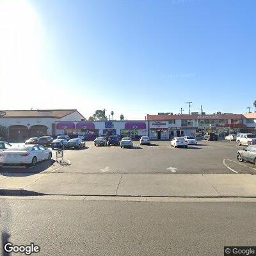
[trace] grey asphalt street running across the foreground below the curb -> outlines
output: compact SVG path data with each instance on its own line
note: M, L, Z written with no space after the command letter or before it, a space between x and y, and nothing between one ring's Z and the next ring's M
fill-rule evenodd
M0 207L2 234L13 244L39 245L38 255L205 256L255 245L250 202L7 198Z

